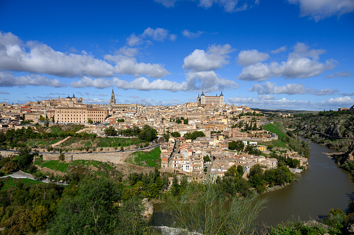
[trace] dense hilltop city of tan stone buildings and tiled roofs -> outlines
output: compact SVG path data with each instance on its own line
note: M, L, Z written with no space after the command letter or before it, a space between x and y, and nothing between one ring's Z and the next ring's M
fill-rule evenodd
M277 167L277 159L271 157L271 151L262 144L278 139L277 134L262 128L269 123L266 116L260 111L251 110L250 107L224 103L223 92L216 96L206 96L202 92L198 94L195 103L150 106L115 103L112 89L108 105L84 104L82 98L77 98L73 94L71 97L59 96L56 99L29 102L24 105L1 103L0 112L2 130L12 128L17 130L24 127L24 123L25 127L34 123L43 126L81 124L86 126L84 129L86 132L97 134L99 137L110 135L106 132L108 128L113 128L117 137L124 137L131 135L127 130L142 129L144 125L149 125L156 130L158 137L161 171L181 173L187 175L189 180L198 182L222 178L232 166L242 166L245 178L255 164L261 164L264 168ZM291 114L280 115L291 116ZM230 148L232 144L234 148ZM121 150L117 148L113 150L120 153L134 148L127 146ZM86 149L83 153L87 151L92 153L90 159L98 159L104 149ZM307 158L298 152L282 148L278 151L286 158L299 161L300 168L293 169L293 172L307 168ZM50 155L45 159L56 158L58 157ZM117 163L107 157L99 159L103 162Z

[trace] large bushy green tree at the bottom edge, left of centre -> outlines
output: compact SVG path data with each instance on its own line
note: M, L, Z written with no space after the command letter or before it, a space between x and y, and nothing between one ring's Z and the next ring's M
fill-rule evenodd
M77 196L65 197L58 205L49 234L141 234L143 220L140 200L118 206L122 184L104 177L86 177Z

